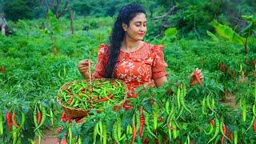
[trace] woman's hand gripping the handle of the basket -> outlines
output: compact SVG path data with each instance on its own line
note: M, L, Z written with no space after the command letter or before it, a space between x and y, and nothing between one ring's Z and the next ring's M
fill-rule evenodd
M89 59L84 59L78 62L78 70L82 74L83 78L89 79L90 78L90 65L91 62Z

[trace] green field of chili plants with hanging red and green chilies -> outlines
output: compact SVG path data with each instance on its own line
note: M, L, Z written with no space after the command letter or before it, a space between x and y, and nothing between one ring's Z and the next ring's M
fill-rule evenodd
M0 143L34 143L44 138L45 130L58 127L58 138L68 143L256 142L253 36L245 54L243 45L217 33L178 38L171 28L174 33L166 30L162 38L147 35L146 42L164 46L168 82L138 88L138 98L129 99L129 110L106 105L78 123L62 122L58 90L66 82L82 80L77 66L82 59L90 58L94 71L98 46L108 42L112 22L113 18L79 18L74 34L65 18L57 21L51 15L50 20L10 24L14 34L0 36ZM89 30L82 30L83 23ZM196 67L204 75L202 86L190 86Z

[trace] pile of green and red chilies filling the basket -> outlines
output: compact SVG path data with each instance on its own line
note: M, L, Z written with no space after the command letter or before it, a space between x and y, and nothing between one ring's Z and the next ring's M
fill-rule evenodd
M70 82L62 86L58 94L63 106L82 110L101 110L122 102L125 96L125 83L114 79L94 79L91 84L86 81Z

